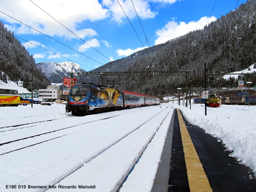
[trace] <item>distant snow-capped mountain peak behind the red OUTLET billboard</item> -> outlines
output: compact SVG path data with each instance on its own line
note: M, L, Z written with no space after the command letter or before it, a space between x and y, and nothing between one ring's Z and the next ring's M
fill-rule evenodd
M70 76L72 67L73 72L85 72L84 69L80 68L79 64L72 62L41 62L36 65L37 68L40 68L45 73L51 83L63 83L63 77Z

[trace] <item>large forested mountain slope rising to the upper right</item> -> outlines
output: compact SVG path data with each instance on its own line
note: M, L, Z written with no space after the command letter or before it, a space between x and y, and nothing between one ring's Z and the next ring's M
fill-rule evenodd
M204 61L207 73L230 73L249 68L256 62L256 0L222 15L203 29L112 61L93 71L190 71L191 86L204 87ZM152 53L154 52L154 54ZM239 77L243 79L244 77ZM254 76L248 76L247 81ZM209 76L211 87L228 87L221 76ZM218 81L219 80L219 81ZM235 79L232 79L234 81ZM94 79L97 81L97 79ZM127 90L142 90L147 94L174 93L185 87L185 77L126 77ZM229 88L229 87L228 87ZM231 88L231 87L230 87Z

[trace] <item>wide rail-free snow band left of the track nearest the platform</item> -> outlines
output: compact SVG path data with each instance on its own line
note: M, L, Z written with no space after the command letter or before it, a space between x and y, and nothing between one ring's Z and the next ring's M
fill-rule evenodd
M49 142L41 143L41 145L34 145L30 148L1 155L0 178L3 178L3 180L0 180L0 184L12 182L38 185L38 181L40 181L45 186L53 185L82 165L91 162L92 159L92 162L94 162L97 156L101 156L105 151L108 151L107 149L116 146L115 144L127 138L127 135L130 137L130 135L135 134L134 132L149 120L154 123L155 120L152 121L152 119L158 114L163 114L164 108L149 107L144 108L147 110L132 110L129 113L127 112L125 118L116 115L112 120L108 120L108 118L94 121L87 124L86 129L84 127L81 129L80 126L79 130L79 126L77 126L76 132L72 132L72 134L49 140ZM118 114L120 112L116 111L114 113ZM103 115L108 114L100 116ZM40 137L44 139L45 136ZM35 138L29 139L35 140ZM2 145L2 147L12 143ZM16 172L16 170L19 171ZM7 172L9 176L3 177ZM23 180L24 178L26 179ZM35 189L35 191L38 191L38 189Z

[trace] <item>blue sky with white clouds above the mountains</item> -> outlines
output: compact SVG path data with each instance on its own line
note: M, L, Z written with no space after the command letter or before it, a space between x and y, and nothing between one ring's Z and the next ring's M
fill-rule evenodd
M164 43L191 30L203 28L215 3L215 0L132 0L132 2L131 0L119 0L140 37L142 45L117 0L31 1L110 60L121 59L135 51L144 49L143 45L146 47L145 35L132 2L151 46ZM87 71L109 62L107 58L86 44L82 45L82 53L99 63L82 55L80 40L31 1L1 1L0 11L78 52L0 13L1 21L9 30L14 31L14 35L58 53L67 59L33 45L28 47L25 41L20 40L21 44L24 44L27 50L29 49L30 54L53 62L73 60L82 64L80 67ZM239 0L237 7L245 2L246 0ZM209 22L234 10L236 4L237 0L217 0ZM36 63L44 62L37 58L35 60Z

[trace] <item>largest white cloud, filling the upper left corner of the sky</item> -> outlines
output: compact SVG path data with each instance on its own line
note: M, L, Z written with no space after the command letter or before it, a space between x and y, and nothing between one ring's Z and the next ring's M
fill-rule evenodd
M85 20L102 20L109 15L108 9L103 8L96 0L34 0L33 2L80 38L95 36L97 33L90 28L79 29L79 23ZM49 36L61 36L68 39L76 38L71 32L28 0L1 1L0 10L4 10L6 14ZM0 18L9 22L11 24L9 25L11 26L10 29L16 34L38 34L35 30L20 25L20 22L13 20L3 13L0 13Z

